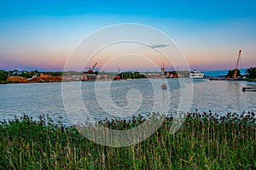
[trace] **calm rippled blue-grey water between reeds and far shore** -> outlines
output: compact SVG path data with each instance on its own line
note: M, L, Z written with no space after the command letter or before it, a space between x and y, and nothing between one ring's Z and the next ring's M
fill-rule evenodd
M189 80L184 81L182 86L178 79L166 80L169 91L160 88L162 80L150 81L96 82L97 94L94 90L95 82L82 82L82 103L91 118L96 121L109 116L129 117L140 113L146 115L151 111L165 111L163 108L166 107L170 107L167 111L169 113L177 111L180 104L180 89L185 89ZM80 82L65 83L69 87L69 99L74 103L77 94L73 88ZM155 91L154 85L157 87ZM256 112L256 93L241 91L242 87L256 87L256 83L195 80L193 86L190 111L211 110L223 115L228 112ZM108 94L106 92L109 87ZM13 119L23 114L35 118L39 114L48 114L55 121L62 117L62 122L69 123L62 101L61 83L3 84L0 85L0 94L0 120ZM76 110L76 107L73 108ZM83 115L76 115L76 113L78 112L74 111L73 116L83 121Z

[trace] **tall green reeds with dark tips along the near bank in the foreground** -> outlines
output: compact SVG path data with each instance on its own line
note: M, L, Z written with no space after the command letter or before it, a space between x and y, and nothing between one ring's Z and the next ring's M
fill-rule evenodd
M95 144L47 116L23 116L1 123L0 169L255 169L256 119L242 115L191 113L174 134L169 116L150 138L122 148ZM101 123L118 129L144 120Z

